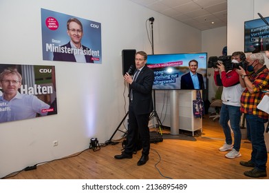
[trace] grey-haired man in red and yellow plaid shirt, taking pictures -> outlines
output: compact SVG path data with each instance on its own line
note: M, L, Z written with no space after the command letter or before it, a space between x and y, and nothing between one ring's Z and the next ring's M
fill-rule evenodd
M246 114L246 129L248 139L252 144L251 159L240 161L240 165L254 167L244 172L245 176L259 178L267 176L266 163L268 159L266 143L264 141L264 123L268 122L268 114L259 110L257 105L263 98L263 90L269 90L269 70L264 65L264 57L261 53L250 54L248 61L248 72L240 67L236 72L240 75L240 84L246 88L241 95L241 112Z

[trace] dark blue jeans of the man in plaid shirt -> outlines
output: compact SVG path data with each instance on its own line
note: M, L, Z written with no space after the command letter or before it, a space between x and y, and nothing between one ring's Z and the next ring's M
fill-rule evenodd
M250 141L252 144L251 161L258 170L266 170L267 150L264 141L264 123L268 119L261 119L259 116L246 114L246 128L250 133Z

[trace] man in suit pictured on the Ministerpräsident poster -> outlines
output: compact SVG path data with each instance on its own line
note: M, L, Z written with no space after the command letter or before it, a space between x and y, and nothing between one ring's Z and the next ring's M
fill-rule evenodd
M53 53L53 60L94 63L89 48L81 44L83 26L78 19L71 18L67 21L67 34L70 41L62 45L58 52Z

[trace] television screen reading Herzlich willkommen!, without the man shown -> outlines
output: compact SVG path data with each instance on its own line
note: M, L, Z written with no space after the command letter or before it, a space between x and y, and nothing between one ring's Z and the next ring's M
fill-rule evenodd
M198 61L197 73L202 74L204 81L203 90L206 89L207 53L184 53L184 54L149 54L147 66L154 72L154 90L183 90L181 88L182 75L188 74L189 61ZM193 90L186 89L184 90Z

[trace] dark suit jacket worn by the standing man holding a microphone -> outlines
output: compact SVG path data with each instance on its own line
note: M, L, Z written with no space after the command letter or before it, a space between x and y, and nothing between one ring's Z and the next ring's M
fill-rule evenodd
M153 70L145 65L138 74L136 81L131 83L130 89L133 90L133 111L136 114L148 114L153 111L151 96L153 81Z

